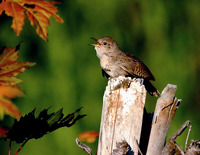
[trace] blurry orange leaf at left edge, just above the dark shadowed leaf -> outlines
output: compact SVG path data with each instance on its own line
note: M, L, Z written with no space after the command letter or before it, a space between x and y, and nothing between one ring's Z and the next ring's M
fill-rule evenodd
M3 119L4 115L10 115L16 119L21 117L21 113L15 104L9 100L14 97L23 96L23 92L19 86L3 86L0 85L0 118Z

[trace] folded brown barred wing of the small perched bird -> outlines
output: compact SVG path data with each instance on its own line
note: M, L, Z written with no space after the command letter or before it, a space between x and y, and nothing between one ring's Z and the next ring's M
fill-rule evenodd
M153 74L148 67L138 58L130 53L124 53L125 55L120 57L120 67L127 73L134 77L146 78L148 80L155 80Z

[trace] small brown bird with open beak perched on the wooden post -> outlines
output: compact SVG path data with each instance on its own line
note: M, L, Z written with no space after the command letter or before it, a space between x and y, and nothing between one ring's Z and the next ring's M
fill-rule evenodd
M100 59L103 76L142 78L147 92L152 96L160 96L159 91L149 81L155 81L153 74L140 59L123 52L111 37L92 39L97 43L91 45L95 47L97 57Z

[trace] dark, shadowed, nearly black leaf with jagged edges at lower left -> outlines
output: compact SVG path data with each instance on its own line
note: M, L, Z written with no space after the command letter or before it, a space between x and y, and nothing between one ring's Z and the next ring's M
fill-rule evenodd
M38 117L35 117L34 109L21 117L19 121L14 121L12 128L6 133L5 140L10 139L16 143L24 143L33 138L38 139L61 127L70 127L86 116L76 115L81 108L65 117L62 110L48 114L48 109L44 109Z

